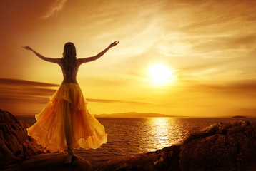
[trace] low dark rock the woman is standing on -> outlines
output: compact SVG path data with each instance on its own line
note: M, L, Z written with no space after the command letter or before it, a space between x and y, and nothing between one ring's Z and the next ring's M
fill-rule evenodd
M67 154L64 153L46 153L31 156L29 159L16 165L10 165L6 170L23 171L23 170L85 170L92 171L92 165L82 157L74 158L72 164L64 164Z

